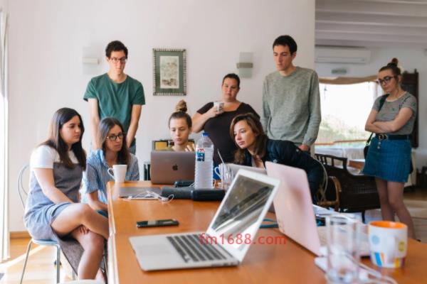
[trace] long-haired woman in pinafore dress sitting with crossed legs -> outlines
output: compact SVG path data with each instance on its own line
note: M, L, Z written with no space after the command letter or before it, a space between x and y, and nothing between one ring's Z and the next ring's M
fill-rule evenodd
M48 140L31 154L24 222L34 239L76 239L84 249L78 278L102 279L97 273L109 235L108 222L87 204L78 203L86 168L84 131L81 116L74 109L58 109L53 115Z

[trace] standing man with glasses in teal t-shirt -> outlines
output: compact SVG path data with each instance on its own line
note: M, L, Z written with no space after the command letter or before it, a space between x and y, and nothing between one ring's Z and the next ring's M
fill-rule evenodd
M92 147L97 145L97 129L100 120L112 116L118 119L126 131L127 147L135 154L135 134L138 129L142 105L145 104L141 82L126 75L127 48L118 40L108 43L105 56L110 65L107 73L93 77L83 99L89 102L92 126Z

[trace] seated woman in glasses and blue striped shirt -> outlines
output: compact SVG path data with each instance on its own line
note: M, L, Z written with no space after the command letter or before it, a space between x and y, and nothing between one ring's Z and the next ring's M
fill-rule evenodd
M88 156L86 171L83 173L83 202L98 213L107 217L107 182L113 180L108 175L108 168L113 165L127 165L125 180L139 180L138 160L129 152L126 133L115 118L106 117L100 122L97 133L100 149Z

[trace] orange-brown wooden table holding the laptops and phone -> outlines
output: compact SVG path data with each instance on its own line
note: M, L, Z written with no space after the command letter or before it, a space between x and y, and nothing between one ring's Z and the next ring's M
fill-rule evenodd
M147 181L126 182L122 186L150 186ZM219 202L120 199L114 182L107 185L110 239L108 240L109 283L325 283L325 275L314 263L315 255L287 238L286 244L256 244L236 267L194 268L145 272L139 267L129 237L205 231ZM270 214L269 217L273 217ZM178 219L179 226L138 229L136 222L147 219ZM259 236L283 236L278 229L260 229ZM410 240L405 267L382 269L363 263L393 277L398 283L423 283L427 278L427 245Z

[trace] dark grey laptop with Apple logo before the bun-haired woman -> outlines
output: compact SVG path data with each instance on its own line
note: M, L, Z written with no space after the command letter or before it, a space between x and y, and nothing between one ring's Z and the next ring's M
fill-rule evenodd
M154 185L173 185L176 180L194 180L194 152L152 151L151 181Z

